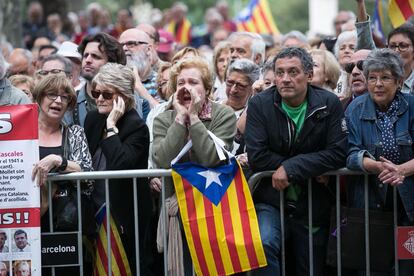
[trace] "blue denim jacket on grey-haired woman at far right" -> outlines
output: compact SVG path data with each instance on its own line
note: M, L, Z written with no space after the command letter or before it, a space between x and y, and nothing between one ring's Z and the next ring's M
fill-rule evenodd
M400 108L394 122L394 135L400 149L400 163L405 163L414 157L414 96L410 94L396 93L400 100ZM362 160L370 157L378 160L382 155L382 143L379 140L379 128L375 112L375 104L370 95L364 94L357 97L349 105L345 113L348 126L348 158L346 165L351 170L364 171ZM349 181L348 200L351 207L364 207L364 176ZM369 177L369 206L371 209L383 209L387 188L389 185L382 184L378 177ZM375 192L374 188L378 188ZM398 192L404 205L407 216L414 221L414 176L406 177L404 182L398 186Z

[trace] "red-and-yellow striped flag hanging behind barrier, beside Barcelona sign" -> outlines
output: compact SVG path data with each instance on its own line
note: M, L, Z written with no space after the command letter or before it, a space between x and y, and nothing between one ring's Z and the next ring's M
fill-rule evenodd
M95 261L94 261L94 276L108 275L108 239L106 235L106 206L103 205L96 215L96 220L99 225L99 233L95 246ZM125 253L124 246L119 236L118 228L113 220L110 218L111 231L111 264L112 275L131 276L131 268L129 266L128 258Z

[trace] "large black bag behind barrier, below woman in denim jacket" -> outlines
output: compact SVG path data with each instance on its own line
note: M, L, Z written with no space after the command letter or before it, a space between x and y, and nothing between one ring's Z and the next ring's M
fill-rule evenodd
M365 270L365 210L341 207L342 268ZM331 213L327 263L337 266L336 209ZM394 219L392 212L369 210L371 271L389 272L394 265Z

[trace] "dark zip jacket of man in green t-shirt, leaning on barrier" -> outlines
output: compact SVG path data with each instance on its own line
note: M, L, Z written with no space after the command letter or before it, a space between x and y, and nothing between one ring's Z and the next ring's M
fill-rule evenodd
M295 216L307 219L307 179L345 165L347 137L344 113L331 92L308 86L307 110L303 127L295 137L295 125L281 107L276 87L256 95L249 102L245 140L249 165L254 173L276 170L283 165L290 183L302 185ZM334 193L313 181L315 224L328 221ZM263 179L253 195L256 203L279 206L279 192L271 179Z

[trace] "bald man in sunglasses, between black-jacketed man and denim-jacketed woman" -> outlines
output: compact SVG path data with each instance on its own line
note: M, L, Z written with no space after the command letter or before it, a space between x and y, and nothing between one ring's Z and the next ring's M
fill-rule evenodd
M364 77L362 65L370 52L370 50L356 51L352 54L350 63L345 65L345 71L349 74L348 85L351 88L351 95L341 100L344 111L353 99L367 91L367 82Z

